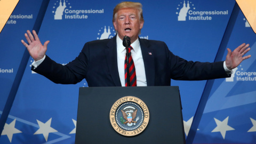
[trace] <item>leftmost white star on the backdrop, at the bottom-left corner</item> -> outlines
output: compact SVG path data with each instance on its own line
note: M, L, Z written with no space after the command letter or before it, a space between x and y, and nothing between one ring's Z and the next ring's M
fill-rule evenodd
M15 126L16 123L16 119L14 119L10 124L6 124L4 125L4 130L2 132L1 135L7 135L8 139L10 140L10 142L12 142L12 136L15 133L22 133L21 131L19 131L18 129L16 129Z

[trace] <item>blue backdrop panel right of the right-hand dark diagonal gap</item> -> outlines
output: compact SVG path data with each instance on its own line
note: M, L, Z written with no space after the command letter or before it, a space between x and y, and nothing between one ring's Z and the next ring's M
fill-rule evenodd
M199 124L194 143L214 141L215 143L255 143L255 57L256 35L250 27L247 27L242 12L239 12L233 33L230 36L228 47L234 50L239 44L251 44L249 54L252 58L245 60L234 69L231 78L216 79L210 92L210 98L206 103L204 114ZM226 59L226 54L222 58ZM228 117L228 126L234 130L226 131L223 136L220 132L212 132L217 123L214 118L221 122ZM255 124L254 124L255 125ZM221 126L222 130L225 130ZM227 127L227 126L226 126ZM252 129L250 131L250 129ZM224 133L224 132L223 132ZM207 137L205 137L207 135Z

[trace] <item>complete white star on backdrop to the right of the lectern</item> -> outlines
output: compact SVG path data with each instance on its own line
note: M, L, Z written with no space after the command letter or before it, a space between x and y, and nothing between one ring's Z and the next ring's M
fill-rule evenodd
M216 118L214 118L214 120L215 120L215 123L217 124L217 127L215 127L215 129L212 130L212 132L220 132L223 139L225 139L225 135L227 131L235 130L233 129L233 127L230 127L228 125L228 117L224 119L222 122Z

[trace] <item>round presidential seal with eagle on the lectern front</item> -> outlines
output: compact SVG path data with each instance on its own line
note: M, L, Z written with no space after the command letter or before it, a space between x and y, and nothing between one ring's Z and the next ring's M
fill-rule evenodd
M133 136L146 129L149 111L142 100L127 96L114 103L109 118L116 132L125 136Z

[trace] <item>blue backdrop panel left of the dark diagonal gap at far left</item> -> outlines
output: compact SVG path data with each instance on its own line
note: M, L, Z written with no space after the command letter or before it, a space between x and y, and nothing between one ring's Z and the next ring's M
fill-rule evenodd
M20 42L32 29L42 1L20 0L0 34L0 110L3 110L26 47ZM28 9L29 8L29 9Z

